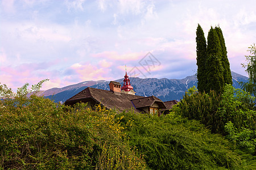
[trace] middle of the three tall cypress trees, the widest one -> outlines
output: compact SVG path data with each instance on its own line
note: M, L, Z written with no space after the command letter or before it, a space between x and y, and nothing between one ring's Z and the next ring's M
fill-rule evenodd
M218 39L218 34L210 27L207 37L207 60L205 67L207 70L207 89L205 92L214 90L221 93L224 90L224 78L222 75L222 65L221 65L221 44L220 39Z

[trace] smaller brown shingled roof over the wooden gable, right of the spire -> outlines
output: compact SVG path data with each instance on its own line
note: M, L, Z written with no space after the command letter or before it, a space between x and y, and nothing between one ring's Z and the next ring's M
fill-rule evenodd
M164 105L163 101L155 96L133 99L131 101L133 102L135 108L151 107L155 102L160 104L162 108L167 108L166 105Z

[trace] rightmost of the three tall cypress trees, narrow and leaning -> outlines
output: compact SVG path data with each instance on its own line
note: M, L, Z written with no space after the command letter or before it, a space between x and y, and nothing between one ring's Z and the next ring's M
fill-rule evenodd
M229 59L227 56L227 51L226 51L226 45L225 45L225 40L224 40L224 36L222 34L221 28L220 27L215 27L214 28L215 31L218 34L218 39L220 39L220 44L221 44L221 63L222 63L222 67L223 67L223 78L224 78L224 83L226 84L232 84L232 75L231 75L231 71L230 71L230 65L229 65Z

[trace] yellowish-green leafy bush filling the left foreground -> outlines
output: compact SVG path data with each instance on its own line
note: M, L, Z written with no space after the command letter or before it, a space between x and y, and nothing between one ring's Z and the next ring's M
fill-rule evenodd
M27 87L1 101L1 168L144 169L114 120L116 113L101 106L92 111L86 104L71 108L36 95L28 98Z

